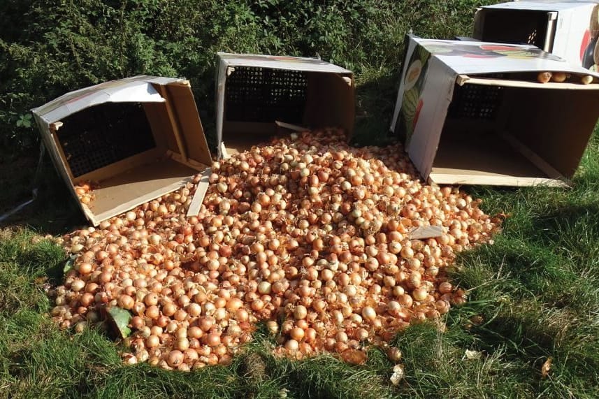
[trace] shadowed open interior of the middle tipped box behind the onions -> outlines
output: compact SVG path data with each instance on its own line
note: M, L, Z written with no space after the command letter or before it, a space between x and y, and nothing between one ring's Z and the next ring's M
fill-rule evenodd
M226 78L222 143L243 152L277 134L275 121L306 128L354 124L351 74L236 66Z

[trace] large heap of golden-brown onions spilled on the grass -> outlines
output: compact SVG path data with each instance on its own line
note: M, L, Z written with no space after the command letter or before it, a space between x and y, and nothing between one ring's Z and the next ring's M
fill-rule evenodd
M64 237L75 267L52 316L82 331L101 310L131 312L130 354L178 370L226 364L258 321L277 353L358 359L410 324L466 301L454 254L498 230L479 201L423 184L400 145L352 148L342 131L277 139L215 162L178 191ZM438 238L410 229L442 226Z

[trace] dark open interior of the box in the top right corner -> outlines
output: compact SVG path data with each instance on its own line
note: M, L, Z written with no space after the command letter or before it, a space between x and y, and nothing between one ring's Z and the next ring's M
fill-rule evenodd
M551 52L555 37L555 12L483 8L475 38L485 42L530 44Z

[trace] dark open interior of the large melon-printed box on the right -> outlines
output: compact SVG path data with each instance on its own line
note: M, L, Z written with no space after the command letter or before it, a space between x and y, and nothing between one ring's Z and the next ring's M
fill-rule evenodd
M430 179L438 184L568 184L599 117L599 91L568 83L480 83L484 79L456 83Z

